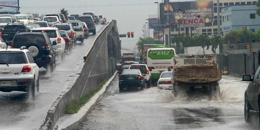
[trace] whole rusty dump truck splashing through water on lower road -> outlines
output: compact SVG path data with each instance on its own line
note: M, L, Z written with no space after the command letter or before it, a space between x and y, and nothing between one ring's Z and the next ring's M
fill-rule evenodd
M170 69L168 68L170 71ZM220 98L218 81L221 80L221 68L218 68L216 56L174 57L173 93L190 95L196 89L208 94L210 99Z

